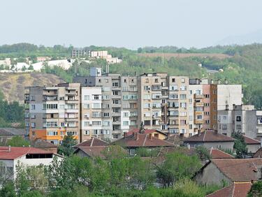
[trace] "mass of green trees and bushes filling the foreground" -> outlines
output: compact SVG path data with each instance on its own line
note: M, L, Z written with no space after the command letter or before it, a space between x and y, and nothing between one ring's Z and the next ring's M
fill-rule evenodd
M15 182L3 181L0 196L205 196L222 185L202 186L190 180L200 168L196 156L167 155L168 165L156 166L150 159L126 157L120 149L102 160L67 156L50 166L17 165ZM176 159L177 158L177 159ZM168 169L175 179L155 187L156 170ZM15 194L14 190L17 191Z

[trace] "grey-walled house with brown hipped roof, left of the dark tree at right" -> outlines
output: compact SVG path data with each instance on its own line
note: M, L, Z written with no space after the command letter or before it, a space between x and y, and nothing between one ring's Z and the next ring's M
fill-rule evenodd
M190 145L190 147L197 147L203 145L208 149L219 148L232 150L234 141L234 138L217 133L217 131L203 131L185 139L184 144Z

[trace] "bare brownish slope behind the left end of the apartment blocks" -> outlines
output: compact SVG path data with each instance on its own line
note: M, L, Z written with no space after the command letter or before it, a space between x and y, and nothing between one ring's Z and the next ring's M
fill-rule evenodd
M47 73L0 73L0 90L7 101L24 103L24 87L56 85L64 82Z

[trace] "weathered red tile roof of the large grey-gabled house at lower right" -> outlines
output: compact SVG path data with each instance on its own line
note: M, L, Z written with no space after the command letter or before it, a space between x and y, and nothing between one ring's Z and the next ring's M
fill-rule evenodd
M262 166L262 159L258 158L212 159L211 162L233 182L258 180L257 168Z

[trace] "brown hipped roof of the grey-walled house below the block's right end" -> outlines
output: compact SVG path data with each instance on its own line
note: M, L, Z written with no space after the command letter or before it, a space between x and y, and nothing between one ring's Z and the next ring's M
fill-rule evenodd
M203 131L199 134L191 136L184 140L184 143L190 142L233 142L235 139L225 136L220 133L215 133L214 131Z

